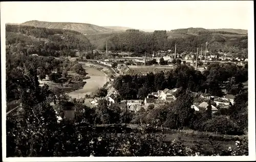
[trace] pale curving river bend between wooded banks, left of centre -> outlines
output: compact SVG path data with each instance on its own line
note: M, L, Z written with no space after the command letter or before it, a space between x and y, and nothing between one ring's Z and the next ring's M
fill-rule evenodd
M87 76L91 78L86 79L86 84L84 84L82 89L69 92L68 95L71 98L82 98L84 95L90 95L109 81L109 78L103 72L89 66L83 67L85 67L86 72L88 73Z

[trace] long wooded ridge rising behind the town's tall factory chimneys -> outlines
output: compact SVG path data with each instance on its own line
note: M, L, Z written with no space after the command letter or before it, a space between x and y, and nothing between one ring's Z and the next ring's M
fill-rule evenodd
M240 34L201 33L185 34L170 33L166 31L122 32L114 34L87 35L88 39L97 49L105 50L106 38L108 48L113 51L130 51L143 53L158 50L174 50L177 52L196 52L197 48L204 47L208 42L208 50L212 52L224 51L231 53L247 54L248 37Z

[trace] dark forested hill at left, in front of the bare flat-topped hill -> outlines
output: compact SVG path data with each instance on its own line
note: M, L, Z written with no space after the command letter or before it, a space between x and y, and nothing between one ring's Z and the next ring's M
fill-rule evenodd
M76 31L17 25L6 25L6 45L10 45L12 53L55 57L92 49L88 38Z

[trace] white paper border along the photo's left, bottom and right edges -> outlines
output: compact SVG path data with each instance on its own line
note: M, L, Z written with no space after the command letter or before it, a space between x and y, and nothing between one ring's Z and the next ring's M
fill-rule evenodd
M231 3L231 2L230 2ZM249 123L249 156L195 156L195 157L9 157L6 158L6 60L5 60L5 24L6 16L1 2L1 69L2 69L2 144L3 144L3 161L239 161L239 160L256 160L255 158L255 86L254 86L254 13L253 1L250 2L250 22L248 28L248 123Z

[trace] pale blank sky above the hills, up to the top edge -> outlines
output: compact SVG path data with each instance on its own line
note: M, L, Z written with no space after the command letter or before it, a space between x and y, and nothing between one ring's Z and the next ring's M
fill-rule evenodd
M1 19L173 30L248 29L252 1L1 2Z

